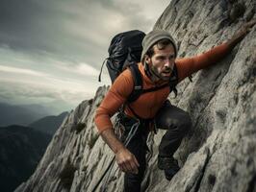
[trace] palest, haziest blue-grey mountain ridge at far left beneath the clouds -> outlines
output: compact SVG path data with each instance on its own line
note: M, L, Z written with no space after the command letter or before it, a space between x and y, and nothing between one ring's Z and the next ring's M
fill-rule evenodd
M39 105L14 106L0 103L0 126L27 126L31 122L51 114L53 113Z

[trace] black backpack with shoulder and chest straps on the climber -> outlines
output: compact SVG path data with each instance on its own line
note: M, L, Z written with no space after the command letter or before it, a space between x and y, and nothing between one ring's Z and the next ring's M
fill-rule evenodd
M158 87L143 89L141 72L138 67L138 62L140 62L141 60L141 52L142 52L141 42L144 36L145 34L139 30L128 31L128 32L115 35L111 41L111 44L108 50L109 58L103 61L103 64L101 66L101 71L99 74L99 82L100 82L102 68L104 63L106 62L109 75L111 77L112 84L113 84L115 82L115 79L118 77L118 75L123 70L129 67L129 69L132 72L135 85L134 85L134 90L132 91L131 95L127 99L128 103L132 103L136 101L143 93L156 91L166 86L170 86L170 91L173 90L175 95L177 95L177 90L175 88L175 85L178 84L176 65L174 65L174 70L169 83L163 84L162 86L158 86Z

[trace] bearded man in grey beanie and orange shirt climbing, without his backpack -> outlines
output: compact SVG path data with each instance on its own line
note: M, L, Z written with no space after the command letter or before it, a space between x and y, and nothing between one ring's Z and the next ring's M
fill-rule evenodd
M163 86L171 78L176 78L179 83L192 73L216 63L243 39L255 23L256 19L246 23L230 40L210 51L185 59L176 59L175 41L166 31L150 32L143 38L139 63L143 89ZM146 137L152 130L152 125L167 131L161 140L158 156L158 167L165 171L167 180L171 180L180 169L173 154L192 127L188 112L170 105L166 100L170 92L169 86L142 94L135 102L127 104L126 100L133 88L133 76L127 69L110 87L95 115L100 135L115 153L120 170L125 172L125 192L141 191L141 181L146 167ZM124 136L128 135L135 123L140 122L138 131L126 147L116 137L110 120L122 105L125 105L121 119L121 124L125 128Z

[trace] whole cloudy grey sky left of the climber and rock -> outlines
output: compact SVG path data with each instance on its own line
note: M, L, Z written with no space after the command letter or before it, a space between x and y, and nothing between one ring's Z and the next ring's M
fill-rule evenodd
M111 84L115 34L152 30L170 0L0 0L0 103L61 112Z

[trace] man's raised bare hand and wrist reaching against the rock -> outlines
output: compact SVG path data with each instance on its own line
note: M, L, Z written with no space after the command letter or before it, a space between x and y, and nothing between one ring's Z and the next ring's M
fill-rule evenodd
M243 24L243 26L239 29L237 33L227 43L233 48L237 43L243 40L243 37L246 36L251 28L256 24L256 18L251 19L249 22Z

